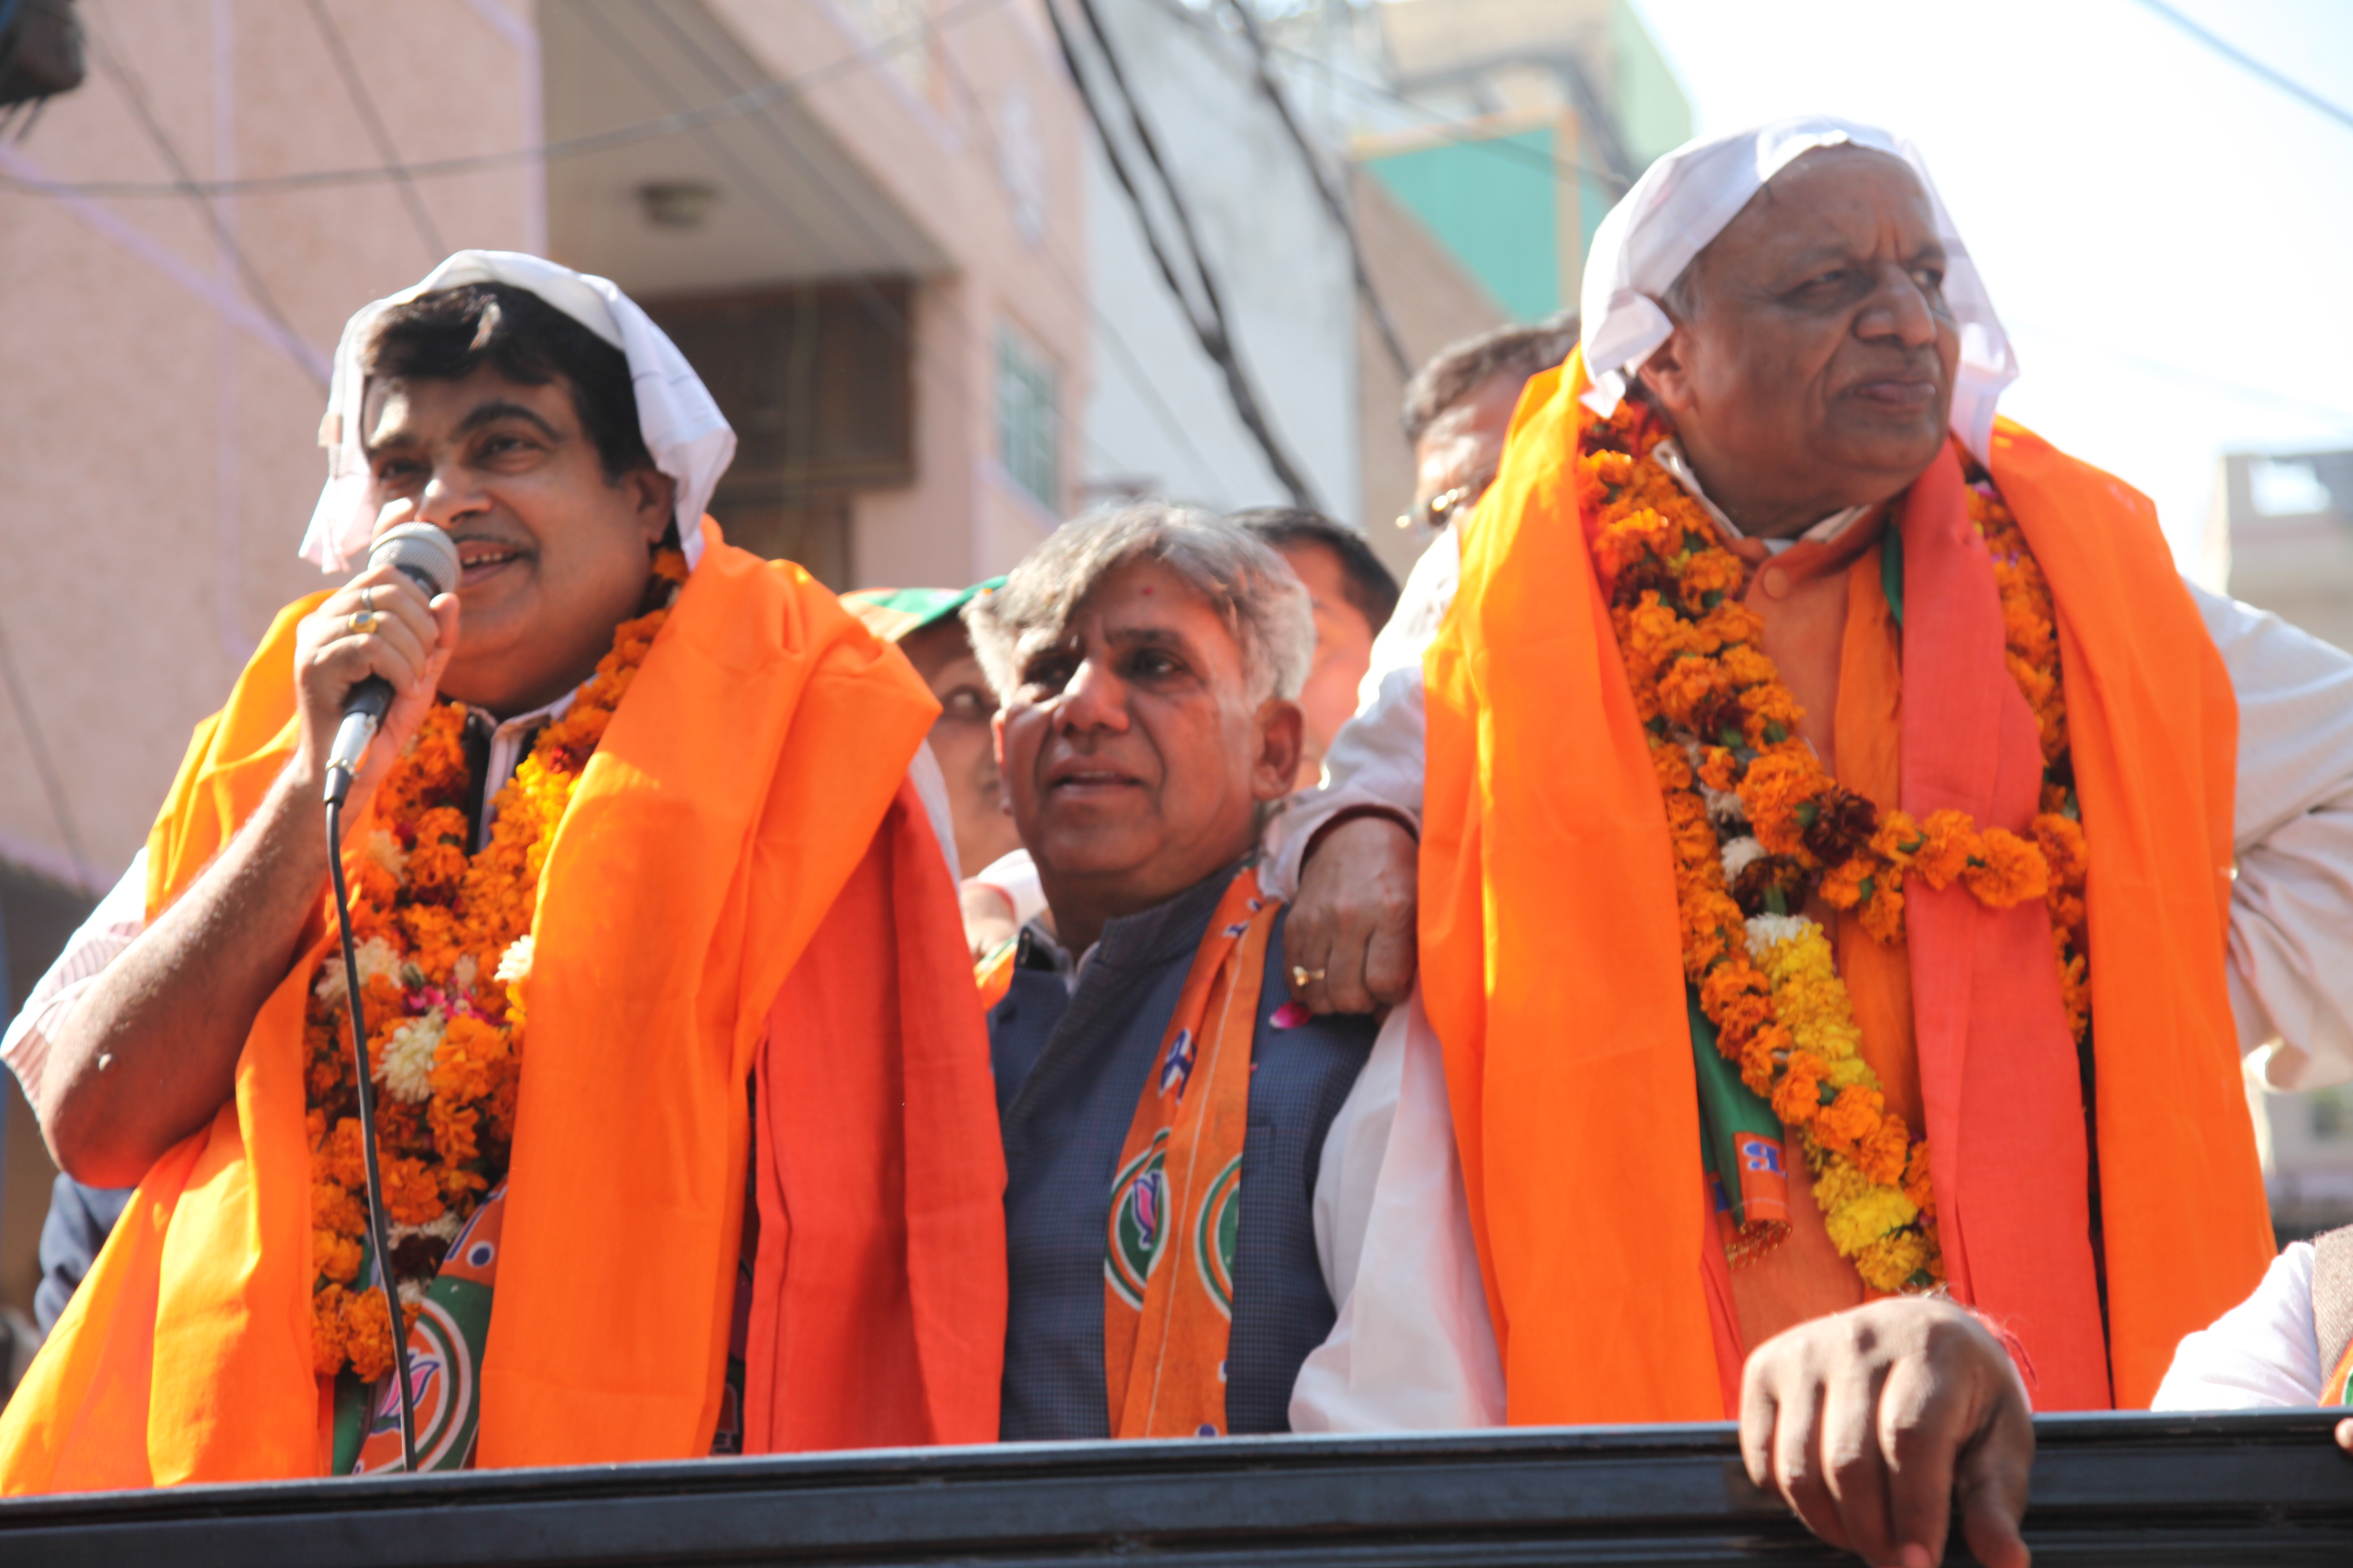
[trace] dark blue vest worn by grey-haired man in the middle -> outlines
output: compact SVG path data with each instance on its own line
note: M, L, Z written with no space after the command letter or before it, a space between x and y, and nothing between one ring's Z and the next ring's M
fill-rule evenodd
M1233 882L1221 870L1104 926L1078 992L1024 936L1012 990L988 1013L1005 1128L1005 1441L1111 1436L1104 1394L1104 1229L1111 1178L1186 971ZM1289 999L1282 922L1266 952L1252 1041L1242 1229L1233 1262L1226 1429L1289 1432L1299 1363L1332 1333L1315 1260L1325 1133L1372 1051L1369 1018L1278 1030Z

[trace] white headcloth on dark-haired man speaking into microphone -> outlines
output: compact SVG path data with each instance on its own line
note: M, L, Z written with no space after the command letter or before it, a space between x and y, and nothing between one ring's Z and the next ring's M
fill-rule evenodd
M367 395L360 355L376 317L419 294L471 282L527 289L628 357L645 449L654 454L654 468L678 480L678 541L692 569L704 557L704 508L734 458L734 430L678 343L612 280L520 252L459 252L416 287L379 299L344 322L344 339L334 348L334 381L327 386L327 418L318 425L318 444L327 449L327 489L311 512L301 557L320 571L351 571L367 557L367 541L376 531L376 512L367 505L367 454L360 449L360 404Z

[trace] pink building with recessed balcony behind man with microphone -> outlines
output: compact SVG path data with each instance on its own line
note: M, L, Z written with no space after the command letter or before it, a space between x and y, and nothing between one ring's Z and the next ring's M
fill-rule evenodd
M1038 0L73 12L87 80L0 139L14 997L320 585L294 548L344 320L454 249L642 299L741 437L713 512L835 588L1002 571L1073 501L1085 174ZM21 1309L47 1161L7 1093Z

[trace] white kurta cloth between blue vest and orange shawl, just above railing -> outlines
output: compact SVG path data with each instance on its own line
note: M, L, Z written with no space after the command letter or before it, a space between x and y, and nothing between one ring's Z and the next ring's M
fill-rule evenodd
M1339 1319L1292 1385L1292 1432L1504 1425L1445 1058L1419 990L1391 1011L1332 1119L1315 1253Z

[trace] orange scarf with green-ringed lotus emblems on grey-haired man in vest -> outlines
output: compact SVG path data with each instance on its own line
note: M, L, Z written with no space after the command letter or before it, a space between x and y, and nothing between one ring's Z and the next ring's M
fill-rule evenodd
M1127 1126L1104 1251L1111 1436L1226 1434L1249 1056L1280 910L1245 865L1209 917Z

